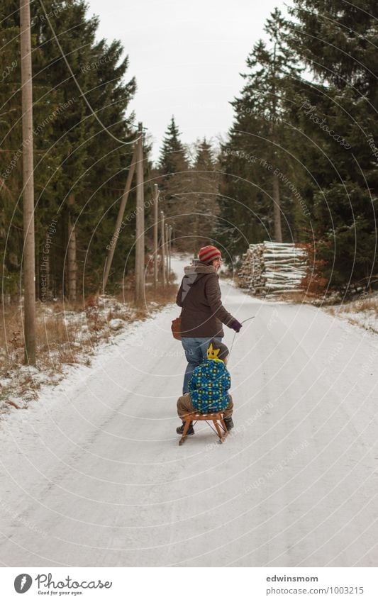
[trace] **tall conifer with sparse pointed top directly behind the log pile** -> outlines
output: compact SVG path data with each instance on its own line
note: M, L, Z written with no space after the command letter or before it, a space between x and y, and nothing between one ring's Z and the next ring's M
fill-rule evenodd
M283 234L293 238L294 199L289 189L282 190L280 174L289 172L284 98L300 69L287 46L284 20L277 9L265 31L269 45L259 40L248 56L249 71L242 75L246 83L231 103L235 120L222 146L226 175L219 233L234 254L264 238L281 241Z

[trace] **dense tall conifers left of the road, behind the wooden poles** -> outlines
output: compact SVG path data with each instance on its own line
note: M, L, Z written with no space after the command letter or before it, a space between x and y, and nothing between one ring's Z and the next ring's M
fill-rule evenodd
M43 7L45 11L43 10ZM21 290L22 150L19 2L0 8L0 252L3 291ZM135 79L125 80L128 57L118 41L96 40L98 19L83 0L30 3L35 147L36 291L39 299L101 283L106 246L113 235L118 199L126 182L135 139ZM48 18L79 86L109 132L94 118L62 57ZM113 137L112 137L113 135ZM131 194L130 228L120 233L110 283L123 273L135 228ZM132 262L130 262L132 265Z

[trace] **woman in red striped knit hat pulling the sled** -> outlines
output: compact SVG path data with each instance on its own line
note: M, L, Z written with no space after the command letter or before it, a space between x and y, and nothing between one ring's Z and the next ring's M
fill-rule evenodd
M207 245L199 250L199 259L184 268L184 278L177 293L176 303L182 308L182 346L187 358L182 394L188 393L191 373L206 359L211 339L222 340L222 323L236 333L240 322L223 307L218 269L221 267L221 251Z

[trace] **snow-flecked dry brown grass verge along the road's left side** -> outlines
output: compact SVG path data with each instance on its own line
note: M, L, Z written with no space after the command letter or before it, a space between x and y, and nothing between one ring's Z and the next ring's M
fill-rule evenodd
M36 369L23 365L22 308L19 305L4 306L0 321L0 402L3 402L3 409L4 403L15 408L26 407L28 400L37 397L41 382L57 383L65 373L65 366L89 365L96 345L109 340L118 328L122 330L123 324L145 320L162 306L172 303L176 292L176 284L156 292L153 286L146 286L145 300L138 308L134 305L131 288L124 289L118 298L94 295L77 303L37 303ZM119 324L111 320L119 320Z

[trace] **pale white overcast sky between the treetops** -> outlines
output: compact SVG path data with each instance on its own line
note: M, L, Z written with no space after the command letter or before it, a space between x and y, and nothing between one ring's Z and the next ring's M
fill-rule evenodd
M99 15L99 36L120 39L138 91L131 108L153 140L156 159L172 115L191 143L225 135L229 101L243 85L239 73L263 26L284 0L88 0Z

